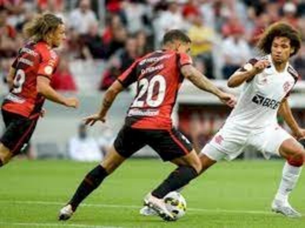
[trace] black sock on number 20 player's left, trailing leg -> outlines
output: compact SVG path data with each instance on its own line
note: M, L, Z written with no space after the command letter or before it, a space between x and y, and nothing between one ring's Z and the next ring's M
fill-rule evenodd
M99 187L107 175L106 170L101 165L98 165L86 175L69 202L73 211L77 209L84 198L86 198L95 188Z

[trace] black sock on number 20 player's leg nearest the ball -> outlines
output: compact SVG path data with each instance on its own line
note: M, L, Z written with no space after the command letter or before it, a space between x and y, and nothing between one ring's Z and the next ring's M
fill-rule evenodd
M158 188L152 191L152 195L161 199L169 192L182 188L197 176L198 173L193 167L178 167L159 185Z

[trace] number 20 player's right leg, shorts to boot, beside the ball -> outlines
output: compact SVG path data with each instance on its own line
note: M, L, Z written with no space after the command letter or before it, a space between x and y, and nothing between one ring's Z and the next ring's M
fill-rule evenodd
M174 216L167 210L163 197L197 177L201 163L190 142L177 130L153 130L146 134L149 139L147 144L163 161L178 165L178 168L144 199L144 205L157 212L164 220L171 221Z

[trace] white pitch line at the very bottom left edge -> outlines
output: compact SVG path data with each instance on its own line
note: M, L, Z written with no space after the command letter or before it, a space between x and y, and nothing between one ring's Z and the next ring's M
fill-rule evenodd
M6 226L29 226L29 227L84 227L84 228L123 228L121 226L93 226L93 225L85 225L85 224L59 224L59 223L5 223L0 222L0 225Z

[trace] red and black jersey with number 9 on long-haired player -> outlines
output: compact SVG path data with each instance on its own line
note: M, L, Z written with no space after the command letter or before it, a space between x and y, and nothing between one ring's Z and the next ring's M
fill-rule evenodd
M57 64L57 54L45 42L30 42L21 48L12 65L16 70L13 88L2 109L26 118L39 115L45 98L37 92L37 77L51 80Z

